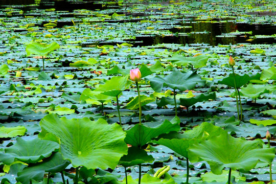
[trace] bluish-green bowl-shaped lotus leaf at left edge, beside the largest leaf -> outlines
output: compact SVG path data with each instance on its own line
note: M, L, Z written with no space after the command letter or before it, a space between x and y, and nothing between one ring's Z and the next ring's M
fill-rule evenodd
M52 152L58 148L59 144L52 141L40 140L38 138L25 141L21 137L18 137L14 145L5 148L5 154L11 155L13 159L17 158L29 164L37 163L39 160L51 156ZM2 160L2 156L0 156L0 160L5 164L9 164L6 163L6 159Z

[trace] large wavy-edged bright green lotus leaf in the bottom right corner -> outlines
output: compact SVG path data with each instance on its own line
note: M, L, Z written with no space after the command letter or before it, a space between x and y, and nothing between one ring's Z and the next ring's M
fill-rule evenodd
M225 167L249 171L259 160L271 163L275 156L275 149L263 148L263 142L260 139L246 141L223 132L219 136L213 136L207 141L192 145L188 154L191 162L205 160L214 174L221 174Z

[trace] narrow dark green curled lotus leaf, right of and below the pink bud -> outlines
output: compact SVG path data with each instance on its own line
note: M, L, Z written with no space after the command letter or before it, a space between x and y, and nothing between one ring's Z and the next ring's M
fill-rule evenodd
M182 105L188 108L196 104L197 102L203 102L203 101L215 100L215 99L216 99L216 93L214 91L212 93L205 93L192 98L180 98L179 105Z

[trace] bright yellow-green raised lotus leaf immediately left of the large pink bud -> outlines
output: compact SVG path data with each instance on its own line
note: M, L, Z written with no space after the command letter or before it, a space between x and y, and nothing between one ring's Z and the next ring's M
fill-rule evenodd
M101 91L103 95L116 97L127 89L130 84L128 77L116 76L106 81L105 84L99 85L94 91Z

